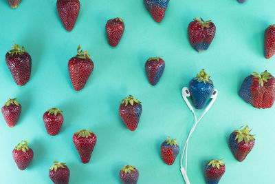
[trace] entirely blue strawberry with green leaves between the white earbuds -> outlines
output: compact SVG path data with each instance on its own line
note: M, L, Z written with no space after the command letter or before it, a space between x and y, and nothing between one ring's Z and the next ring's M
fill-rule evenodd
M202 69L189 83L190 95L196 109L202 109L212 95L214 85L209 78L210 76Z

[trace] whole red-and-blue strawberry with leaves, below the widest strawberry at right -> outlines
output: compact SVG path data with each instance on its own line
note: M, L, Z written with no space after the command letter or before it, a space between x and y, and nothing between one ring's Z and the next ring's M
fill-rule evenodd
M235 130L229 136L229 147L237 161L243 161L254 147L255 135L251 135L248 125L243 130Z

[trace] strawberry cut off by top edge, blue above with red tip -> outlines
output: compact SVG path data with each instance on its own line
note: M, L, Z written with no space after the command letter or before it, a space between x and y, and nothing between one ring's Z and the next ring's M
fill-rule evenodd
M160 23L164 18L169 1L170 0L143 0L144 5L157 23Z

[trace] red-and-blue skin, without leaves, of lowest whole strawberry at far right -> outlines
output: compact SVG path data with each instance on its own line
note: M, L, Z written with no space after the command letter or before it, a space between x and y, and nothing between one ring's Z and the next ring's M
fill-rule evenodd
M229 147L234 155L235 159L239 162L242 162L246 156L251 152L252 148L254 147L254 140L250 140L248 143L245 141L241 141L238 143L238 140L235 140L236 132L232 132L229 136Z

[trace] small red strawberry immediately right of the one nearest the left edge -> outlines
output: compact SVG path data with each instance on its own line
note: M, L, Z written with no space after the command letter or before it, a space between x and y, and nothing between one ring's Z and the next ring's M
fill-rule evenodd
M61 125L63 123L63 115L61 112L63 111L52 108L43 114L44 125L46 127L47 133L51 136L55 136L58 134L59 130L61 130Z

